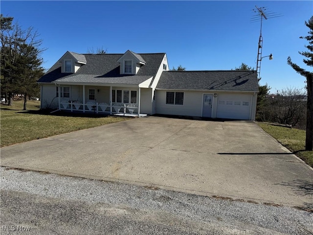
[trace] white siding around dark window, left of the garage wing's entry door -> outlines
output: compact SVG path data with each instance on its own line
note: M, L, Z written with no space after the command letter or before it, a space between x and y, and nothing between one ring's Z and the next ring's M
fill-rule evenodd
M183 91L183 93L183 105L172 105L165 103L166 91L156 90L156 113L165 115L201 117L203 92Z

